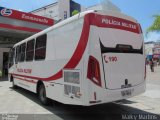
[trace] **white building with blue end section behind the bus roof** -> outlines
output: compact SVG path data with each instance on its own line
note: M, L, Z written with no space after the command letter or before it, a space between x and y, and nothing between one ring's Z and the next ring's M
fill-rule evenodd
M58 2L38 8L30 13L54 19L55 22L67 19L86 9L73 0L58 0Z

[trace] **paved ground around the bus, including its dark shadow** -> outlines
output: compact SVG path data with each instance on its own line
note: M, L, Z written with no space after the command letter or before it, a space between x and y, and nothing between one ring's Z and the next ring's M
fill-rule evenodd
M23 89L13 90L11 83L2 79L0 80L0 113L2 114L0 120L6 117L6 113L24 114L19 115L18 120L160 120L158 116L160 115L160 67L155 68L154 73L151 73L147 67L147 91L144 94L118 104L92 107L60 103L45 107L40 104L35 94ZM15 115L14 118L16 117Z

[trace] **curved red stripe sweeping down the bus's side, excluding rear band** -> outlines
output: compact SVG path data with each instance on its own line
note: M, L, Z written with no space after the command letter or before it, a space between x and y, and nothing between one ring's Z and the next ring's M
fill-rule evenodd
M86 46L87 46L88 37L89 37L89 30L90 30L90 14L86 15L84 18L82 34L81 34L78 46L77 46L73 56L71 57L69 62L63 67L63 69L74 69L78 65L78 63L80 62L80 60L83 56L83 53L86 49ZM31 79L52 81L52 80L58 80L58 79L62 78L63 69L61 69L56 74L54 74L53 76L48 77L48 78L40 78L40 77L34 77L34 76L14 74L14 73L10 73L10 74L20 76L20 77L31 78Z

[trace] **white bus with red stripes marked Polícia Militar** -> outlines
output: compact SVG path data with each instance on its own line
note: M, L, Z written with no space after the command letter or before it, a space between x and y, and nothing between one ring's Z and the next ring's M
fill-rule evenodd
M91 106L145 91L141 27L129 16L86 11L13 46L9 80L63 104Z

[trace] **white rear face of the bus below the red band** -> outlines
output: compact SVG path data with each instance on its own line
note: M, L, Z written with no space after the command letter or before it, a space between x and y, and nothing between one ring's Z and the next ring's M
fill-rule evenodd
M133 51L102 53L101 44L108 48L116 48L117 44L131 46ZM88 56L99 62L102 85L98 86L88 79L89 105L127 99L145 91L143 46L142 33L91 26ZM85 66L88 64L86 61ZM87 71L85 74L87 76Z

